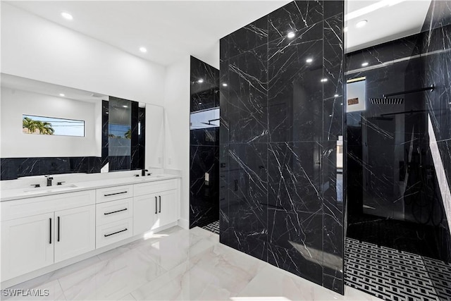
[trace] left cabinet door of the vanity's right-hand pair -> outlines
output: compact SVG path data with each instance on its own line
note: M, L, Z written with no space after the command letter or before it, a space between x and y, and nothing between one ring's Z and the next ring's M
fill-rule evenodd
M158 215L158 195L140 195L133 197L133 235L154 228Z

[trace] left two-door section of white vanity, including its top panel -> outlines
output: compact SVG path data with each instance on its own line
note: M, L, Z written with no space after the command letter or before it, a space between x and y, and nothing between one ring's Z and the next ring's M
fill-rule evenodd
M1 202L2 280L94 250L94 203L94 190Z

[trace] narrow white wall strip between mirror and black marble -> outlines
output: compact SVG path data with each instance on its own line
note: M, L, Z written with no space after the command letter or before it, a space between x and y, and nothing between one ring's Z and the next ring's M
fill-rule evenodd
M190 223L190 56L166 68L165 168L182 171L180 226Z

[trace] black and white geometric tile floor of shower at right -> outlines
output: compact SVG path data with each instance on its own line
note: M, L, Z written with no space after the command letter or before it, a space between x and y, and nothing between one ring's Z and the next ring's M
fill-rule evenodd
M345 284L383 300L451 301L451 264L346 238Z

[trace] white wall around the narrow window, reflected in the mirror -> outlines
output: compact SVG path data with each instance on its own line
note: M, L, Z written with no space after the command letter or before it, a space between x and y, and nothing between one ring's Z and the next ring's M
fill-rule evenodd
M2 158L32 156L101 156L101 102L54 97L1 87ZM30 135L22 133L22 115L67 118L85 121L85 137ZM100 135L101 139L101 135Z

